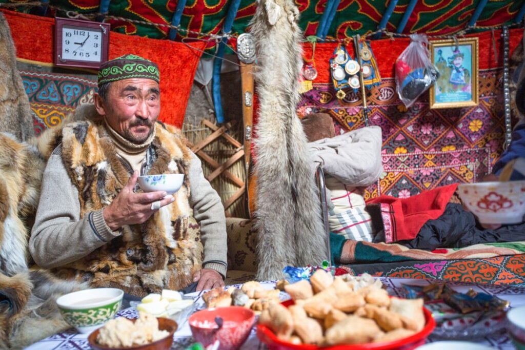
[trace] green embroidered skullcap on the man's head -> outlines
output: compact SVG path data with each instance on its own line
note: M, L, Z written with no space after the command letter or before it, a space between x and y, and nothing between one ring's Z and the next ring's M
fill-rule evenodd
M160 82L159 66L137 55L124 55L102 63L98 71L98 86L129 78L146 78Z

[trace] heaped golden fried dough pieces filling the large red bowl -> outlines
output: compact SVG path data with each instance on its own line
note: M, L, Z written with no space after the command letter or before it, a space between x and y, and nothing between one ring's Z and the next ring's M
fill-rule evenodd
M284 285L295 301L271 302L259 324L294 344L364 344L408 337L425 325L423 299L390 298L381 281L346 281L317 270L310 282Z

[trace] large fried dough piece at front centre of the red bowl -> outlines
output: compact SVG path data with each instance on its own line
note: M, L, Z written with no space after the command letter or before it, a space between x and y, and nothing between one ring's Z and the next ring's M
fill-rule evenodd
M373 341L380 332L375 321L350 315L328 328L324 340L327 345L364 344Z

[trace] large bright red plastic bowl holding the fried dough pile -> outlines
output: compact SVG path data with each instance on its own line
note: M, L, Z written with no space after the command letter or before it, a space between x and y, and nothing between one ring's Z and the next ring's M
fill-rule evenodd
M293 305L293 300L287 300L282 303L286 307ZM423 313L425 314L425 326L423 329L416 334L409 337L398 339L392 342L380 342L380 343L367 343L367 344L352 344L352 345L333 345L333 346L317 346L311 344L292 344L285 342L277 338L277 336L270 330L270 328L257 325L257 337L259 340L268 346L269 350L412 350L418 346L425 344L427 336L432 333L436 322L430 311L423 307Z

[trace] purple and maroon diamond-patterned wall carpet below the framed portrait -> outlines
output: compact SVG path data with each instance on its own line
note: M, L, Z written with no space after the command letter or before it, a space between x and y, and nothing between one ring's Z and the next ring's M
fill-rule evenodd
M451 183L476 182L489 173L504 141L500 73L480 72L479 105L470 108L431 110L425 93L407 110L393 79L383 79L369 92L370 125L383 132L384 173L367 188L365 199L409 197ZM340 132L364 126L360 97L349 93L340 102L329 84L315 84L304 93L298 112L329 113Z

